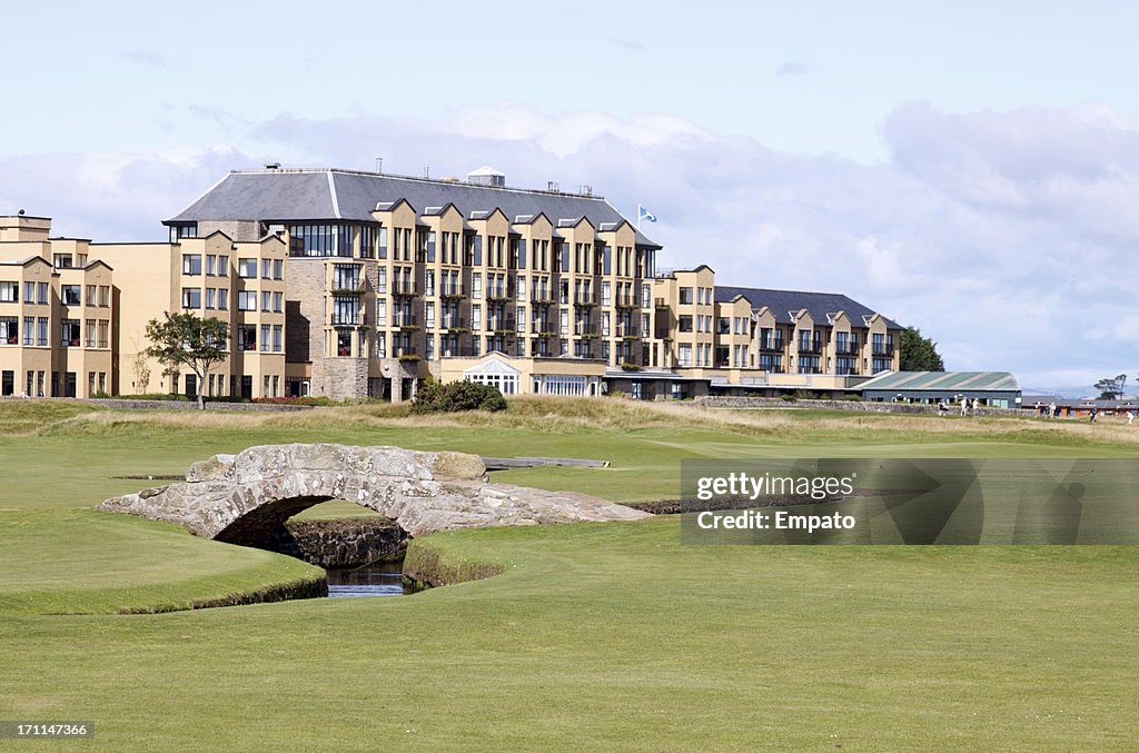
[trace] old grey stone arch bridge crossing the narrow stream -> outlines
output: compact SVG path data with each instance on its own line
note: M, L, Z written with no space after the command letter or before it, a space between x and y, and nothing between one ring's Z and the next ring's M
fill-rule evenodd
M374 509L412 537L487 525L648 517L587 494L489 483L475 455L344 444L274 444L215 455L190 466L186 483L115 497L98 509L261 546L292 516L331 499Z

